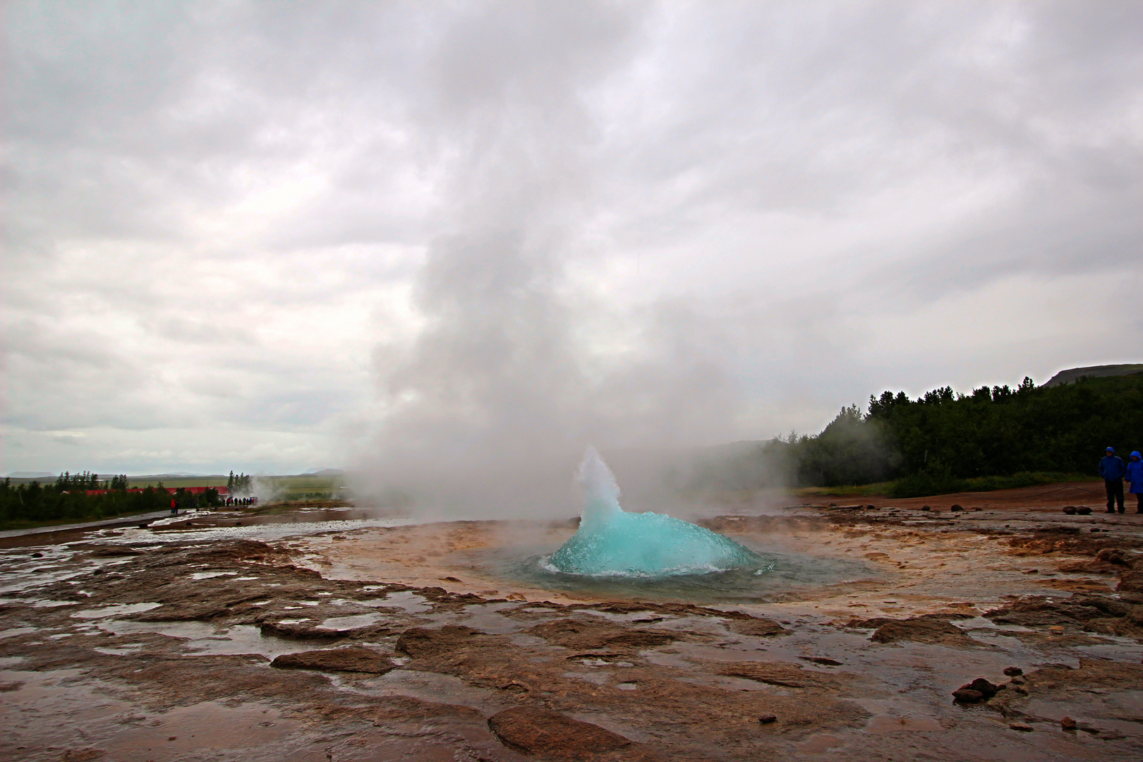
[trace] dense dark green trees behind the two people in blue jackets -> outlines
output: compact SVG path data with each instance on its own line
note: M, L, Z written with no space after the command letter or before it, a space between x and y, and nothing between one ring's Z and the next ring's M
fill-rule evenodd
M944 386L911 399L882 392L864 412L842 408L821 433L791 433L730 463L708 464L698 482L738 489L839 487L893 481L892 497L959 491L967 480L1095 474L1104 448L1143 448L1143 374L1062 386ZM712 482L713 479L713 482ZM1033 482L1028 482L1033 483Z

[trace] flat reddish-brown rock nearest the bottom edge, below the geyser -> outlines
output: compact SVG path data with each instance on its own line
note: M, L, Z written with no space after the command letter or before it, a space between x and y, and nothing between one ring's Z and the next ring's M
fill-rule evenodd
M584 760L631 745L599 725L530 706L497 712L488 727L505 746L553 760Z

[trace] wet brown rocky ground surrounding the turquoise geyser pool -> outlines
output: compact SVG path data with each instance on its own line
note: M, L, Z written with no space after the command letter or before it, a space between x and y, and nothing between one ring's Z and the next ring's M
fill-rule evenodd
M0 754L1143 757L1143 516L929 503L705 520L866 570L734 605L473 562L566 522L24 540L0 555Z

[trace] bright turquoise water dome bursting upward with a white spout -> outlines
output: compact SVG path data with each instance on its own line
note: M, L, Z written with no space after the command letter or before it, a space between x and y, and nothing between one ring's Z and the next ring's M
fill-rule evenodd
M596 576L665 576L726 571L760 562L753 551L689 521L628 513L610 468L589 447L580 466L580 531L552 554L560 571Z

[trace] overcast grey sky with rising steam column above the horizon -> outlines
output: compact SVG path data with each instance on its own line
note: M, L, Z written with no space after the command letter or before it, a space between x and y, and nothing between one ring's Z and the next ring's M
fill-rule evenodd
M765 439L1143 361L1138 2L3 25L2 473Z

